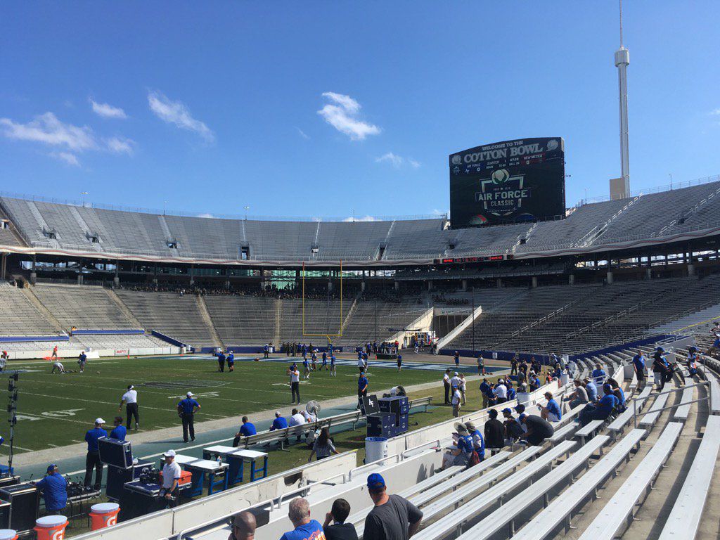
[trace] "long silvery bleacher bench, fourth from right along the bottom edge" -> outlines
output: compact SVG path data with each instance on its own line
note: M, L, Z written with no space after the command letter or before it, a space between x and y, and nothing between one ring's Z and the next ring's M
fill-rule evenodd
M544 497L544 502L547 505L549 503L549 492L566 481L572 482L579 469L588 469L590 459L595 452L600 451L600 454L602 454L603 446L609 440L610 437L607 435L593 437L588 441L588 444L581 446L572 456L555 467L552 474L541 477L530 489L521 491L505 504L502 504L502 500L500 500L500 508L490 513L489 516L482 519L474 527L469 528L457 540L487 540L508 524L510 525L510 536L513 536L515 534L515 520L518 516L521 516L521 513L528 506L541 497Z

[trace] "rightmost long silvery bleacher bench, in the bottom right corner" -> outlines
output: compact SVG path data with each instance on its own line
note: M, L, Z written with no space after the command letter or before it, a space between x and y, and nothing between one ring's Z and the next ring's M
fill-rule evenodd
M692 540L698 532L700 518L710 491L715 462L720 450L720 416L708 416L703 441L685 477L680 495L660 533L660 540Z

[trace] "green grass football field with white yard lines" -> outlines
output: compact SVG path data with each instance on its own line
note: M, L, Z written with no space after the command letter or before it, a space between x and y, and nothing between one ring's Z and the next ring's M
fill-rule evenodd
M63 365L78 369L72 359L63 360ZM287 406L286 367L277 362L236 361L235 372L226 369L218 373L212 359L114 357L88 361L82 374L61 375L50 374L52 364L47 361L12 362L9 369L28 370L19 375L15 451L19 454L83 441L98 416L112 422L127 384L138 390L140 431L179 426L175 406L188 390L202 405L196 422ZM440 377L431 371L403 369L398 373L372 368L370 390L439 381ZM302 402L355 395L356 380L357 370L350 366L338 366L337 377L324 371L313 373L310 382L300 384ZM7 396L5 393L2 399ZM5 402L0 406L4 408ZM0 434L8 438L7 431ZM7 454L6 445L0 447L0 454Z

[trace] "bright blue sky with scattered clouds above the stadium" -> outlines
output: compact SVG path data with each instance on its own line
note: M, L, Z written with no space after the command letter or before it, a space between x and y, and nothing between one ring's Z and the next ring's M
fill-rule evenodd
M720 3L626 1L633 189L720 173ZM9 192L217 215L427 215L447 156L565 139L619 176L614 1L4 2Z

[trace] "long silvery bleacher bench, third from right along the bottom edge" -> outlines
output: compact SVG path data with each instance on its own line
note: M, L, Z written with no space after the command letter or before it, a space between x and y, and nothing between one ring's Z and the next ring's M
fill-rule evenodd
M639 449L640 441L645 435L644 429L634 429L618 442L611 451L603 456L593 467L580 477L577 482L564 490L558 498L541 511L535 518L521 528L513 536L513 540L543 540L565 523L570 527L572 513L590 495L597 495L598 487L611 474L615 474L622 462L630 461L632 449Z

